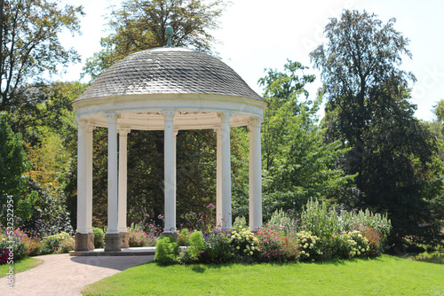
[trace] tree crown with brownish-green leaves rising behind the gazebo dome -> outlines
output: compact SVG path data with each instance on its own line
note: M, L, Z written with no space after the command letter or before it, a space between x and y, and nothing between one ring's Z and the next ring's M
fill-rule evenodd
M222 0L126 0L111 13L112 33L101 39L103 50L87 60L85 73L95 79L133 52L165 46L167 26L174 29L174 46L211 53L216 40L210 30L218 28L225 6Z

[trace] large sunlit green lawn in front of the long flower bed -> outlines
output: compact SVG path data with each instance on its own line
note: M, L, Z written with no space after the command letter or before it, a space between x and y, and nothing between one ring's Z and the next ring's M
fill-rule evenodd
M297 264L154 262L88 285L83 295L444 295L444 265L388 255Z

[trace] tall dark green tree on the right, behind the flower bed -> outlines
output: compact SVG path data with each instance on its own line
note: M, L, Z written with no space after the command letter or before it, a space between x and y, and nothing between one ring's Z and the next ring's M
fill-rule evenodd
M430 200L442 190L435 167L436 139L414 117L408 82L400 69L411 58L408 39L375 14L345 11L325 27L328 38L310 53L321 69L327 97L327 141L352 148L339 163L357 174L349 206L369 206L390 215L393 238L430 238L420 223L432 219ZM343 199L344 200L344 199ZM433 231L432 231L433 232Z

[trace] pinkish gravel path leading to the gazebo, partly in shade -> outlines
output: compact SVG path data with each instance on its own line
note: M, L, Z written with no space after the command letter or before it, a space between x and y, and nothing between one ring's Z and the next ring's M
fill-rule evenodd
M7 287L7 277L0 278L0 295L82 295L83 286L152 261L155 256L72 257L63 253L34 258L44 263L15 274L13 289Z

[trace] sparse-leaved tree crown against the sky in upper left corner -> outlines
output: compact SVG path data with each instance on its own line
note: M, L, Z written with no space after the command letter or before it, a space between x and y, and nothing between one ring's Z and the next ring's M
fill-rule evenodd
M0 111L32 103L25 95L44 74L56 74L58 66L79 60L74 49L65 49L59 34L79 32L82 7L60 9L47 0L0 0Z

